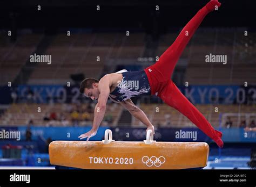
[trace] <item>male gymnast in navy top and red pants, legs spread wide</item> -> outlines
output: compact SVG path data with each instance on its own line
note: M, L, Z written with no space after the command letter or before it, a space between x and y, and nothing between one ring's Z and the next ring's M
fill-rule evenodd
M97 133L98 127L104 118L107 99L110 97L114 102L118 102L127 109L132 116L142 121L147 126L146 131L152 130L154 126L146 117L145 113L133 104L131 97L156 95L167 105L183 113L192 121L201 131L223 147L221 140L222 133L214 130L211 124L201 114L196 107L180 92L177 86L171 80L173 69L186 47L188 41L192 38L201 21L205 16L221 4L218 0L211 0L187 23L178 35L173 44L160 56L159 61L142 71L119 71L117 73L106 74L100 80L95 78L85 78L80 84L80 92L92 100L98 100L95 106L95 116L92 129L78 138L89 140ZM138 88L134 84L128 84L130 81L138 81Z

